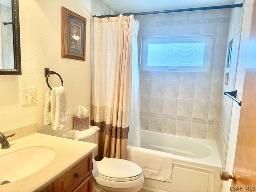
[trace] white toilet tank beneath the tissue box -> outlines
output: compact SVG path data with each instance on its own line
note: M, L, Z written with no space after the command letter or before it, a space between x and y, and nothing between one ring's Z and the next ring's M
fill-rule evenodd
M99 142L99 130L97 126L89 125L89 128L83 131L72 129L68 132L65 132L60 137L79 140L83 142L95 143L98 145ZM98 155L98 148L92 152L92 158L95 158Z

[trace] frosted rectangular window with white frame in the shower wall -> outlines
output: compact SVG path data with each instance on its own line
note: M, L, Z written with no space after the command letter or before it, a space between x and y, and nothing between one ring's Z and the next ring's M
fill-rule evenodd
M142 38L141 70L209 72L212 35Z

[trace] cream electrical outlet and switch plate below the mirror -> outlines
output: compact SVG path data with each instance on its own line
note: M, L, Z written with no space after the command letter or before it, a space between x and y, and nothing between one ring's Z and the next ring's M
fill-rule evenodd
M36 87L21 88L21 105L36 103Z

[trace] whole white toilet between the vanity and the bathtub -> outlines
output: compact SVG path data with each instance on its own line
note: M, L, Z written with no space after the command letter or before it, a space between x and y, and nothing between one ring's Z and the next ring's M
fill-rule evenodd
M98 144L100 128L89 126L87 130L70 130L61 135L63 138ZM92 158L98 155L98 149L92 152ZM102 192L138 192L144 182L140 166L124 159L104 157L97 162L99 177L95 177Z

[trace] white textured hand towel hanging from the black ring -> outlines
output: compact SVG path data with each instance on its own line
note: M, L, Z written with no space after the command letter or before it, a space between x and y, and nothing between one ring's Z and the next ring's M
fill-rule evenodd
M60 130L66 122L70 120L70 112L64 87L53 87L52 90L46 92L44 106L44 125L52 125L52 129L56 132Z

